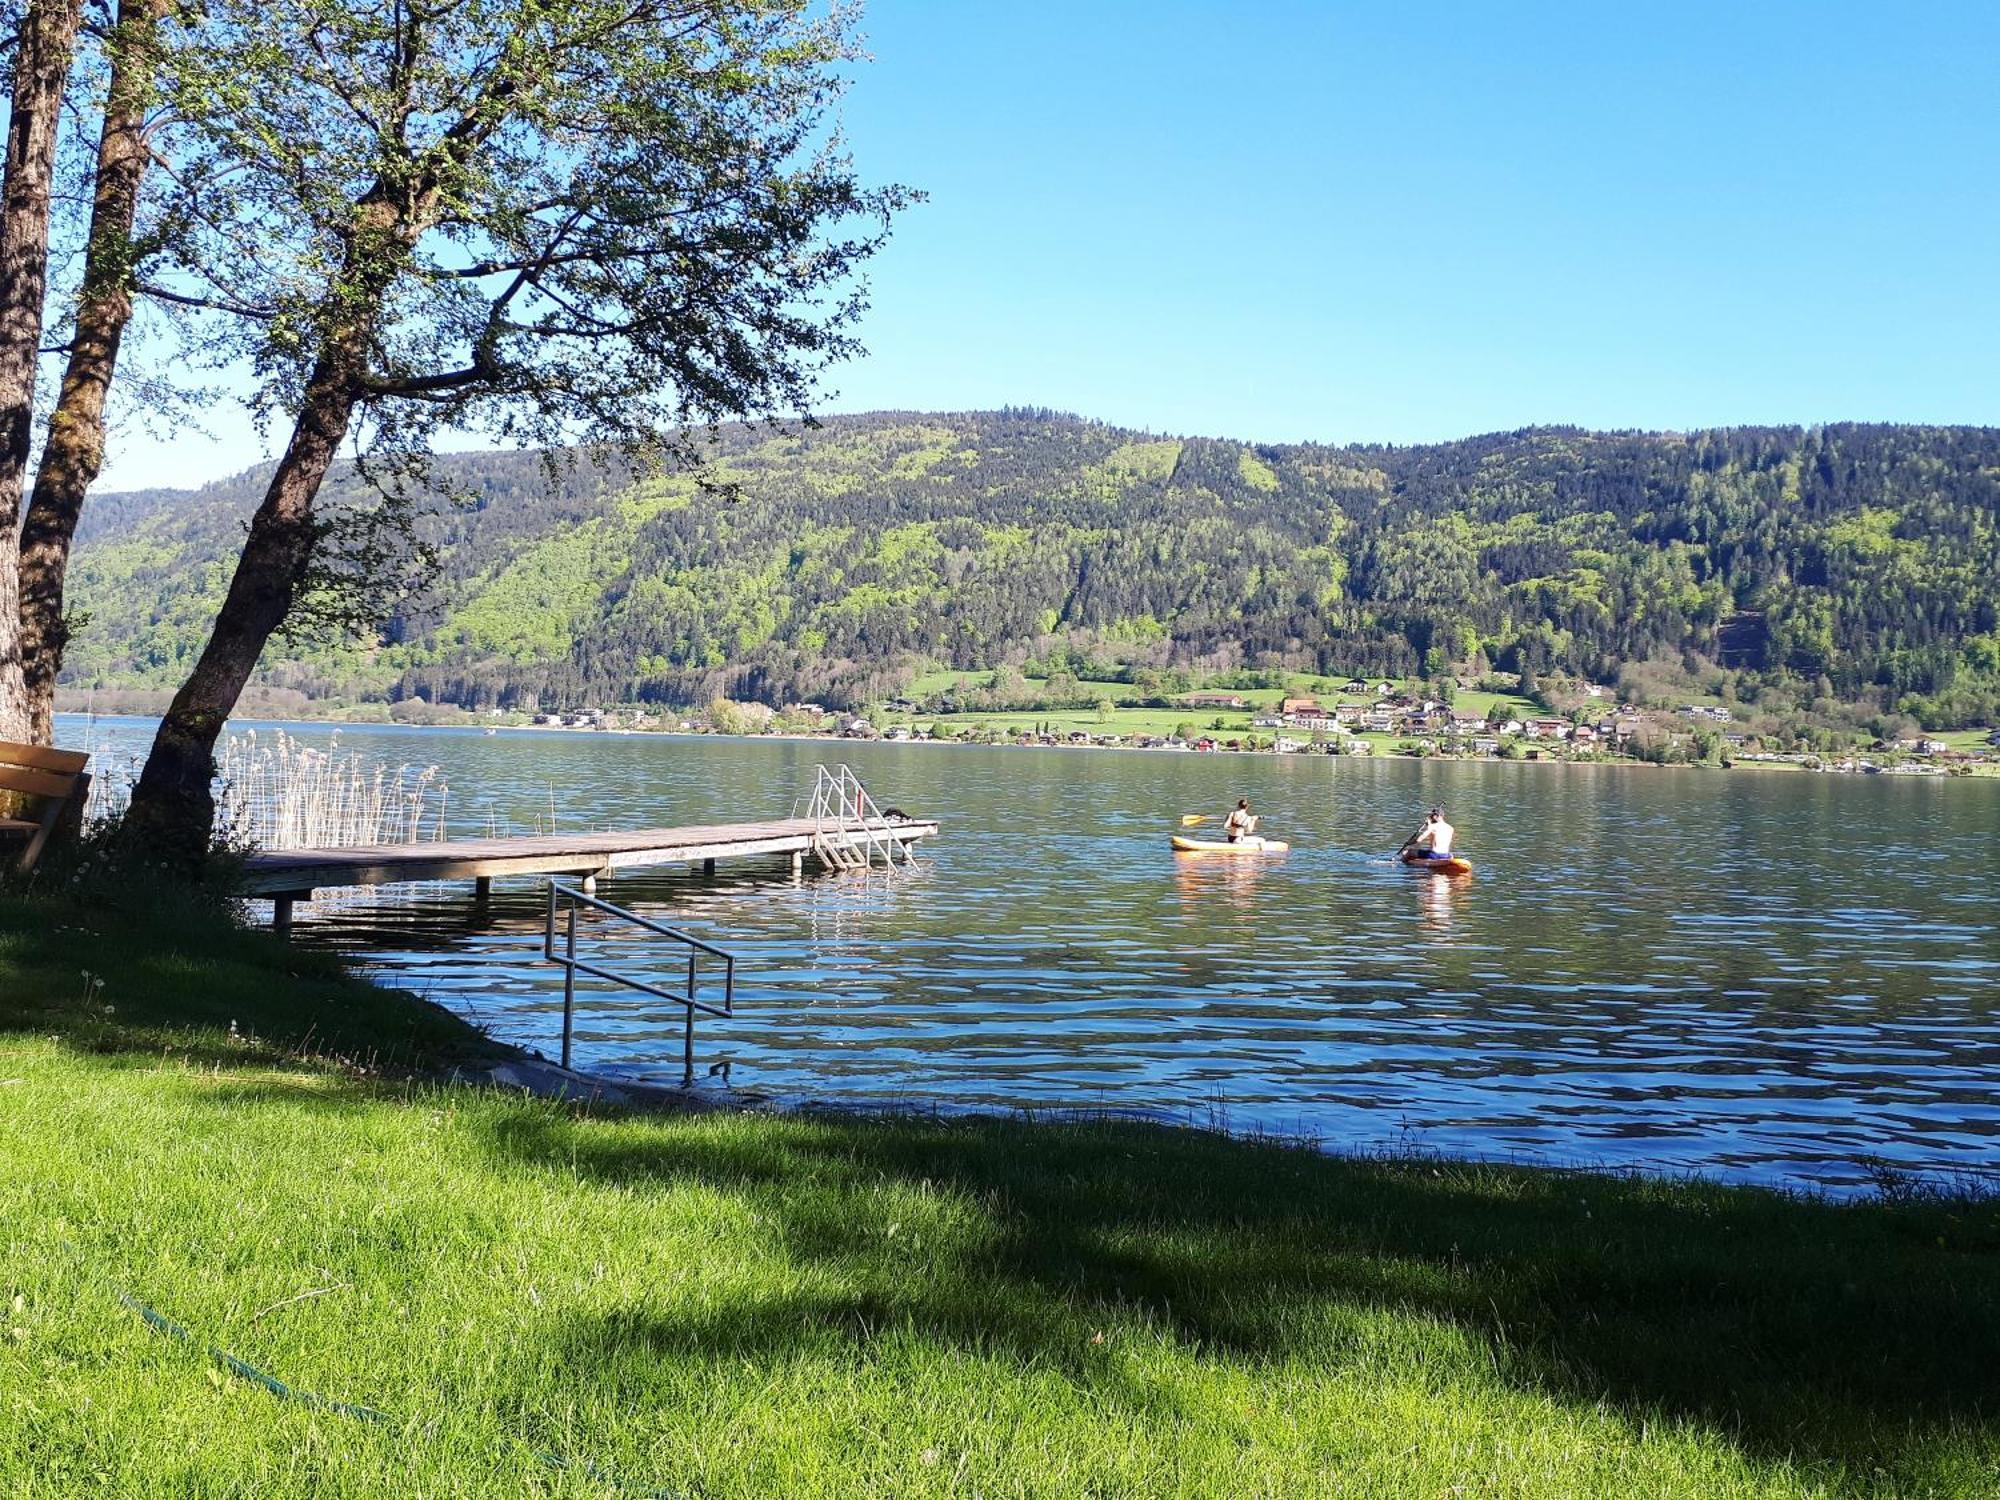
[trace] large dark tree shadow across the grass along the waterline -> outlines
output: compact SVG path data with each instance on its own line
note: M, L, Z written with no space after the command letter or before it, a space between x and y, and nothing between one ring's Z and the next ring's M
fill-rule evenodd
M1940 1442L1996 1444L1994 1202L1838 1206L1128 1124L812 1120L756 1140L512 1116L494 1148L628 1190L734 1190L796 1266L856 1288L576 1324L562 1356L586 1372L908 1330L1096 1384L1092 1334L1118 1314L1268 1362L1340 1360L1340 1328L1386 1310L1464 1330L1516 1388L1690 1418L1756 1458L1914 1476ZM884 1184L968 1198L984 1230L914 1276Z

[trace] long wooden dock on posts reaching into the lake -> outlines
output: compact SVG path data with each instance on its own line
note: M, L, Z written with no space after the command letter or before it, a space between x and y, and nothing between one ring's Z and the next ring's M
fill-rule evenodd
M524 838L452 838L432 844L368 844L360 848L288 848L252 854L244 890L272 902L280 934L292 926L292 904L332 886L394 886L412 880L472 880L478 892L494 878L570 874L584 888L618 870L660 864L700 864L714 874L718 860L790 856L792 870L808 856L828 868L860 866L876 848L884 856L938 832L930 818L866 818L828 824L826 818L778 818L694 828L634 828L600 834L530 834Z

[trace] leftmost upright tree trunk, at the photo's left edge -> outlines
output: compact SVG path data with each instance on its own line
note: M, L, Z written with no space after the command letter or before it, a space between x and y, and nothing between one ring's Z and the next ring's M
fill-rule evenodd
M80 0L30 0L14 54L0 184L0 738L26 740L20 650L20 496L34 446L34 374L48 290L48 188Z

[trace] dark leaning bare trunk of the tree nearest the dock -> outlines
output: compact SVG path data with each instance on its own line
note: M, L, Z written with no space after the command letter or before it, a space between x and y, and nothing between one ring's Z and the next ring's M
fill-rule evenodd
M216 820L212 782L216 736L250 680L264 642L284 624L300 578L312 562L312 502L340 452L360 398L358 362L322 356L306 386L292 442L250 518L236 576L216 614L208 646L160 720L146 770L132 788L126 834L150 854L196 868L208 854Z

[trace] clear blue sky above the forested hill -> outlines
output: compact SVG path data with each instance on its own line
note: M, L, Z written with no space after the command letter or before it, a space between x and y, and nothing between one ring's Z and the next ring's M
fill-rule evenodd
M1170 432L2000 422L2000 6L872 0L930 200L826 410ZM248 432L136 440L198 482Z

